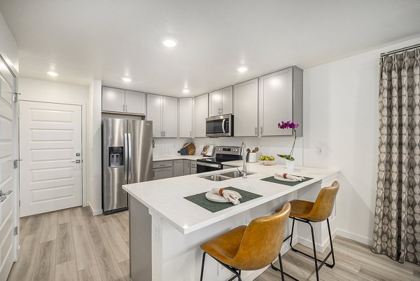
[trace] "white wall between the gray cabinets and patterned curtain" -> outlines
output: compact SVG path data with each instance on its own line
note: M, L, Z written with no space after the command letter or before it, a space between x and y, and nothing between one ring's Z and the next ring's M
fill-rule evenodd
M338 234L365 244L372 242L377 190L379 56L416 43L420 38L304 70L304 165L341 169Z

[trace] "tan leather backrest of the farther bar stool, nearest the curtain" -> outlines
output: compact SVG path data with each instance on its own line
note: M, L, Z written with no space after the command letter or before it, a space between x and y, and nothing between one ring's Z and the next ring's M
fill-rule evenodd
M314 207L308 215L310 221L325 221L328 219L334 208L335 198L339 189L338 181L334 181L330 187L324 187L316 197Z

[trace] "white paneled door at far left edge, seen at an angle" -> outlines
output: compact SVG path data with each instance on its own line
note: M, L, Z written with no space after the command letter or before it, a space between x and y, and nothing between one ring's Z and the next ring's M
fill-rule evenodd
M0 189L3 193L17 191L17 176L13 169L15 158L15 76L0 57ZM6 280L13 261L18 257L18 236L13 227L18 226L16 192L0 199L0 280Z

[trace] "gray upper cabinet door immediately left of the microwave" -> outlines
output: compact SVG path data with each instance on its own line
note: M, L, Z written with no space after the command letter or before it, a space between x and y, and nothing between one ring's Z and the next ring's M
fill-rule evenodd
M193 104L193 135L206 137L206 118L209 117L209 95L194 98Z

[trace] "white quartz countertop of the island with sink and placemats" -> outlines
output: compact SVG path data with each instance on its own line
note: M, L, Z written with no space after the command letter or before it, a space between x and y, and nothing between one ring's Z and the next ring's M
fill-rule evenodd
M140 203L146 205L149 213L158 214L162 219L165 219L169 224L181 231L181 233L188 234L293 191L297 191L304 186L331 177L339 172L337 169L295 167L293 174L314 179L295 186L286 186L260 180L272 176L274 172L286 172L285 165L263 166L260 163L248 163L247 167L248 172L256 172L255 174L248 175L247 179L239 177L225 181L209 181L208 179L201 178L205 175L219 174L222 172L218 170L183 177L146 181L138 184L127 184L123 186L123 189L139 200ZM223 170L223 172L229 172L230 170L237 170L237 168ZM223 188L227 186L257 193L262 197L215 213L209 212L184 198L197 193L211 191L214 187Z

